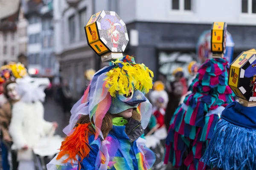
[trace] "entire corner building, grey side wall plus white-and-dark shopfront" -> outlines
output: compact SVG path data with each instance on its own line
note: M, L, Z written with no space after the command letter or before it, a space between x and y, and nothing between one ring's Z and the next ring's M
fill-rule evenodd
M143 62L155 79L172 80L172 71L197 60L198 37L212 22L224 21L235 42L234 57L256 46L254 0L55 0L55 53L61 74L69 79L74 97L85 87L83 72L101 63L85 40L84 26L101 10L116 11L126 23L129 43L125 54Z

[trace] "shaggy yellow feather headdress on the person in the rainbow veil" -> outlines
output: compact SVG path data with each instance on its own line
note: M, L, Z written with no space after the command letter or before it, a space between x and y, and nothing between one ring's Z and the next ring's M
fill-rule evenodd
M112 61L112 65L104 79L112 97L116 96L116 92L128 96L134 90L148 93L152 88L153 72L144 64L136 64L133 57L127 55Z

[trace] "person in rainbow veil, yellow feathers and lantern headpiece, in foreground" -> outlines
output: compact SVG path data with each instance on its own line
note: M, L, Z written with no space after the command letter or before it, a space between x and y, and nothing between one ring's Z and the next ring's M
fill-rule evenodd
M106 18L120 20L112 11L96 15L95 22L91 23L91 17L85 26L92 48L90 31L100 30L97 27ZM123 22L122 27L123 39L119 43L127 45ZM108 34L96 34L100 40L108 38ZM70 124L64 128L67 137L60 153L47 164L48 170L149 170L154 164L154 153L145 147L145 139L140 138L152 112L144 94L152 88L153 72L144 64L135 63L131 56L113 61L115 52L105 52L111 53L111 65L94 74L84 96L73 106Z

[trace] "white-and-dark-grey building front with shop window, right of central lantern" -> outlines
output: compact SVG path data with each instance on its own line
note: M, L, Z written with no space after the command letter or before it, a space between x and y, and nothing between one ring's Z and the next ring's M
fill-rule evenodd
M227 23L234 57L256 46L254 0L120 0L119 16L130 38L126 53L151 68L156 79L164 74L171 80L179 66L187 70L188 62L197 59L198 37L214 21Z

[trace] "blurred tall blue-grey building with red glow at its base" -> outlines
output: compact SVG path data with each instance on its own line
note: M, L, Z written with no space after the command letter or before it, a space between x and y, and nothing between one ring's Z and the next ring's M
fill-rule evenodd
M28 68L43 77L58 77L59 65L54 55L52 0L29 0L25 4Z

